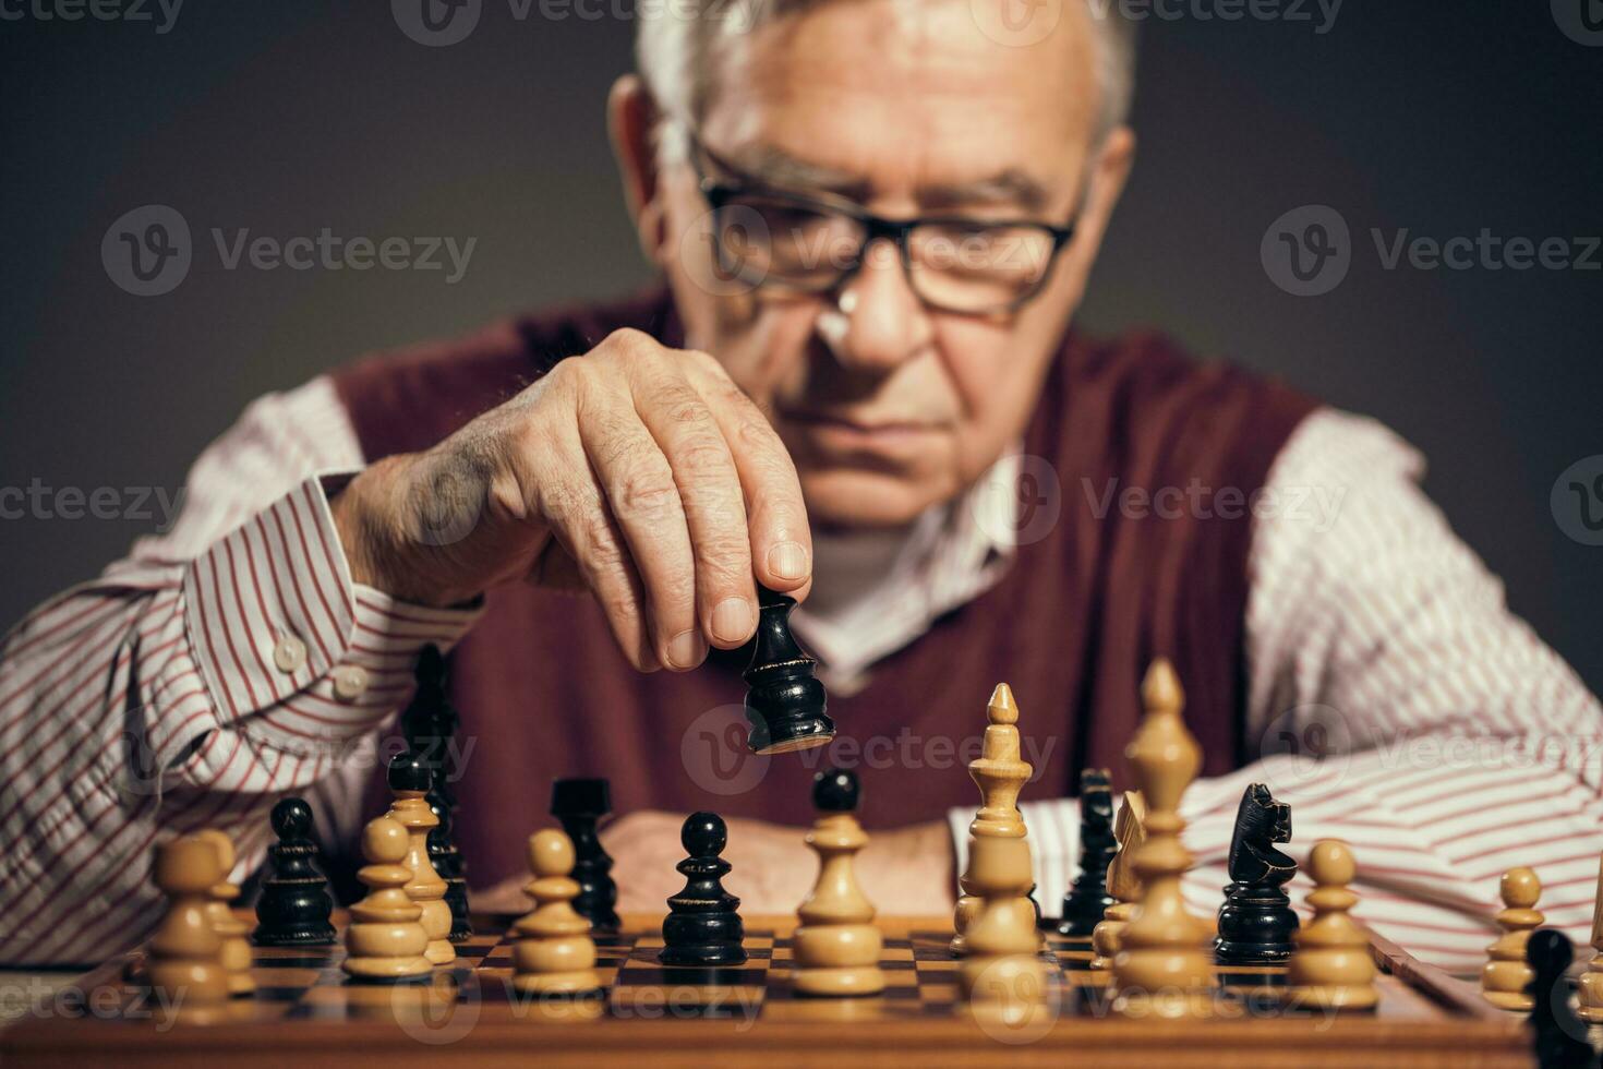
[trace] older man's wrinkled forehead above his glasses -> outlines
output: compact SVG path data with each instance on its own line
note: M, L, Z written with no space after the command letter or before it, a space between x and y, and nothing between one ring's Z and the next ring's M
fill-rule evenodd
M1074 188L1098 117L1085 5L1063 3L1032 43L997 40L975 6L835 0L726 34L702 138L737 163L800 163L790 170L819 173L811 184L866 199L923 200L999 176Z

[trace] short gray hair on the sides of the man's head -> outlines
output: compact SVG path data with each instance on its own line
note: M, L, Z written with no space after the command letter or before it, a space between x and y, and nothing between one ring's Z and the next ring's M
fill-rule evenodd
M665 0L641 3L635 30L635 64L670 127L701 120L712 93L713 66L728 42L769 22L802 14L832 0ZM1010 0L1003 0L1010 2ZM1056 0L1074 3L1077 0ZM1135 21L1109 0L1085 0L1096 35L1100 91L1095 144L1122 125L1135 95ZM659 135L668 135L660 130ZM660 147L675 155L683 138Z

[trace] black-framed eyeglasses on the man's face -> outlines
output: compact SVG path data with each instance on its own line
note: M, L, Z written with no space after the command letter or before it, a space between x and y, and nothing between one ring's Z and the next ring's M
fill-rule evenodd
M694 135L691 165L712 208L718 269L752 287L827 293L888 240L907 285L930 308L986 316L1016 311L1047 282L1074 221L991 223L959 216L886 220L846 197L766 189L707 151ZM707 175L713 163L728 180Z

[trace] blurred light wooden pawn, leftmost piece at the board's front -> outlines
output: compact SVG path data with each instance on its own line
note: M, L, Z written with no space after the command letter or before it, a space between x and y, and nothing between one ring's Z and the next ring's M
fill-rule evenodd
M151 987L191 1019L228 1002L223 938L208 915L212 888L224 875L216 846L204 838L183 835L155 848L155 886L168 906L151 939Z

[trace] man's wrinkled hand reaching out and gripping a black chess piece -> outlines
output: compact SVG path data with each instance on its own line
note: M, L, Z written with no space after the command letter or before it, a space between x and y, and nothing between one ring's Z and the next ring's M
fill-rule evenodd
M531 579L592 590L630 664L694 668L798 599L813 540L790 454L705 353L617 330L333 498L356 582L455 604Z

